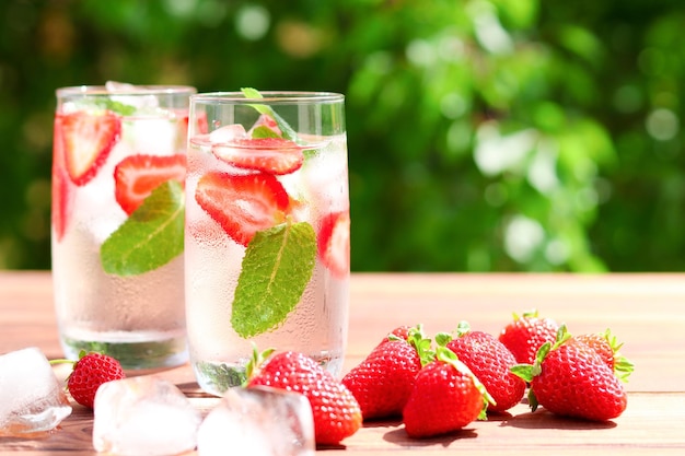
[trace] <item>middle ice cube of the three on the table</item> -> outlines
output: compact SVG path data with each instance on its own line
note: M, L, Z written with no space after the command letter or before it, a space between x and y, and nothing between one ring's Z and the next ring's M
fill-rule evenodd
M95 395L93 446L116 455L176 455L195 448L201 420L184 394L163 378L107 382Z

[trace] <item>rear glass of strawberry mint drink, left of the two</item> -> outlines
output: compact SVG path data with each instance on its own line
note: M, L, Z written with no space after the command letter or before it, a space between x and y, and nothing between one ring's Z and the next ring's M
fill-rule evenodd
M188 86L57 91L53 280L61 344L182 364Z

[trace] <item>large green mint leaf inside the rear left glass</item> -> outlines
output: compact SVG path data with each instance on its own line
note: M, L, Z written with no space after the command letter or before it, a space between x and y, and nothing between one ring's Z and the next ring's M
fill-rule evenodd
M183 186L169 180L105 239L100 259L107 273L136 276L151 271L183 253Z

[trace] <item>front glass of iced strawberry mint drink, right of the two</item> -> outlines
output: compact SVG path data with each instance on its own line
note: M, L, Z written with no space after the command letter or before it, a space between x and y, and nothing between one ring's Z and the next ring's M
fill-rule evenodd
M349 304L344 96L198 94L186 177L186 318L200 386L244 379L256 347L339 374Z

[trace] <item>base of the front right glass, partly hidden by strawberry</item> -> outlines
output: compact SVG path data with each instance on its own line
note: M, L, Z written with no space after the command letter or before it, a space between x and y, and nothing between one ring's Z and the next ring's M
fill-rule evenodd
M322 354L314 359L336 378L340 375L342 356L334 358ZM223 396L229 388L241 386L245 382L245 365L248 359L246 358L236 363L194 361L191 364L195 378L200 388L210 395Z

